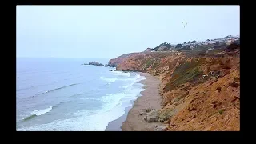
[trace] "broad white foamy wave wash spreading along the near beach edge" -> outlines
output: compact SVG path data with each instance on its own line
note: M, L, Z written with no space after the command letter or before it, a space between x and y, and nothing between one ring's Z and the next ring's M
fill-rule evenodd
M103 102L100 110L78 110L74 112L74 118L24 126L18 128L18 131L104 131L109 122L125 114L125 108L132 105L130 101L135 100L140 91L141 89L135 88L127 93L106 94L99 99Z

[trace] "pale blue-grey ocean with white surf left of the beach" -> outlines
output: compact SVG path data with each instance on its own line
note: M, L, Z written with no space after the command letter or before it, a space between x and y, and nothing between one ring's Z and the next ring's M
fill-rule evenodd
M18 131L103 131L143 90L137 73L81 65L97 58L17 58ZM113 71L110 71L113 70Z

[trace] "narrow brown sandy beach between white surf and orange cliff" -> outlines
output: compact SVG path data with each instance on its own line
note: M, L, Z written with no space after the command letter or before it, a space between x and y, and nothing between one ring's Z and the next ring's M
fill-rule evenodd
M154 126L163 125L161 122L146 122L144 115L139 113L143 110L152 108L160 110L162 108L162 98L159 94L160 80L148 73L138 72L145 79L138 83L142 83L142 96L133 102L132 106L126 107L125 114L118 119L111 121L106 126L105 131L154 131Z

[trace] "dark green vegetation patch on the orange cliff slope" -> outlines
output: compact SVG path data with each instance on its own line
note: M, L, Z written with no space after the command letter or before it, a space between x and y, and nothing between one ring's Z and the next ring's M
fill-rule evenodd
M176 86L183 83L190 82L194 78L202 75L202 71L198 69L201 61L191 61L183 62L181 65L177 66L174 73L171 74L170 82L166 84L166 91L174 90Z

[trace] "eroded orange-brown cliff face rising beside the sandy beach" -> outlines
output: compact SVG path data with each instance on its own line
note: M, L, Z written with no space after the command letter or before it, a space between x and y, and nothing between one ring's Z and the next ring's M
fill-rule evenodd
M117 70L143 71L161 80L159 121L168 124L167 131L240 130L239 55L151 52L111 62Z

